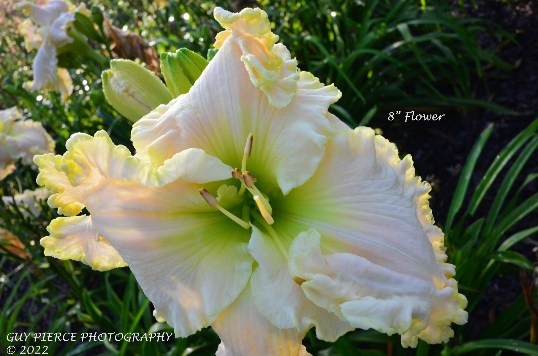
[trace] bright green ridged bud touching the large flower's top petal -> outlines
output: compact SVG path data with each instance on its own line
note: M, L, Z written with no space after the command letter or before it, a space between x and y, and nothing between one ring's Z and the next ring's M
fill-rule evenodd
M201 55L187 48L161 53L161 72L174 98L187 93L207 65Z

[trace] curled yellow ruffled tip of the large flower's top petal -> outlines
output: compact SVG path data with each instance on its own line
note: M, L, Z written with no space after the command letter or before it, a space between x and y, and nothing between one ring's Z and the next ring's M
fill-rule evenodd
M275 108L287 106L297 91L297 60L291 58L284 45L276 44L279 37L271 32L267 13L259 8L233 13L217 6L214 15L226 29L217 33L215 48L221 48L225 40L235 41L254 86L267 95Z

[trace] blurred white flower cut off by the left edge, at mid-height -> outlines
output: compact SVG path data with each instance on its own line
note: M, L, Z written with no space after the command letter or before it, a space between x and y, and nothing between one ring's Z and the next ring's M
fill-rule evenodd
M0 110L0 180L13 172L19 158L31 165L34 155L54 152L54 140L43 125L21 117L15 107Z

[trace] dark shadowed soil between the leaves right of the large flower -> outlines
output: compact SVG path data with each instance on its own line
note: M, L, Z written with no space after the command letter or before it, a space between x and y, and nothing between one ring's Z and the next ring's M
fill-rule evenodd
M476 2L478 8L475 8L469 0L465 0L461 15L489 20L513 34L518 41L518 44L509 42L502 46L499 53L502 60L518 66L517 69L512 72L504 72L497 68L487 70L490 76L487 81L490 95L485 86L479 85L476 97L484 100L492 98L494 103L518 111L521 115L507 116L491 111L472 112L467 115L462 112L447 112L447 115L437 122L410 120L391 122L387 120L387 112L386 117L377 117L370 123L372 127L380 127L387 139L397 143L400 152L410 153L415 162L416 174L432 183L434 190L431 193L430 207L433 209L437 224L441 226L447 217L461 167L465 165L465 159L472 145L486 125L494 123L495 128L477 163L466 201L502 147L538 116L538 3L528 0L511 1L509 4L495 0L476 0ZM454 1L453 5L457 3ZM480 38L480 42L486 48L497 46L499 43L486 33ZM489 194L471 221L487 216L506 170L505 168L497 182L490 188ZM519 188L527 174L536 172L538 172L538 152L534 152L523 168L513 190ZM520 202L536 191L538 183L535 181L522 191ZM507 200L510 198L509 195ZM462 210L465 209L464 204ZM521 220L504 238L535 225L538 225L538 211L530 213ZM530 238L538 240L537 236ZM526 240L513 250L525 254L534 262L536 256L532 252L533 247L534 245ZM521 293L517 275L495 276L469 318L468 338L476 339Z

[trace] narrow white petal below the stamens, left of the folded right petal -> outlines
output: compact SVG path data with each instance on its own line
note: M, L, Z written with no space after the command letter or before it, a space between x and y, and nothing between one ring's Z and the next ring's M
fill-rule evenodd
M307 331L315 325L317 338L330 342L355 329L349 322L308 300L289 274L288 263L274 241L255 226L249 252L259 264L251 276L254 303L271 323L299 331Z

